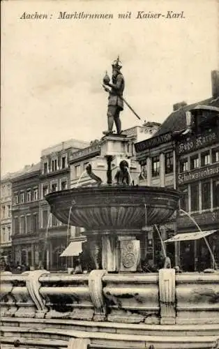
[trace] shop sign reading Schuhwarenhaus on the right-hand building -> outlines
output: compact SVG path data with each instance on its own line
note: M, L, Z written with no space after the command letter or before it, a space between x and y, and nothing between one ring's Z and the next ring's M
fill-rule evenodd
M219 163L214 163L208 167L198 168L190 172L181 173L178 176L179 184L185 184L191 181L199 181L204 178L211 178L219 174Z

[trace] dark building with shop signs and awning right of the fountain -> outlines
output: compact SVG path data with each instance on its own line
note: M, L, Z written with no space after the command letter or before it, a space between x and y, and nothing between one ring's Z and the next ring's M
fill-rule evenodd
M165 241L177 232L218 230L219 72L212 72L211 98L192 105L174 105L172 114L153 138L135 144L141 164L141 184L167 186L181 192L181 211L159 227ZM193 219L199 225L195 225ZM151 228L147 246L156 262L162 253L158 232ZM218 259L218 233L206 237ZM204 239L163 244L174 265L199 270L212 266Z

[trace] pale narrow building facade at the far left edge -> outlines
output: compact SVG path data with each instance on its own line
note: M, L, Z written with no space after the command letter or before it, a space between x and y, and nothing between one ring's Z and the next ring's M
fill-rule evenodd
M13 174L7 174L1 179L1 257L4 258L6 262L11 260L12 176Z

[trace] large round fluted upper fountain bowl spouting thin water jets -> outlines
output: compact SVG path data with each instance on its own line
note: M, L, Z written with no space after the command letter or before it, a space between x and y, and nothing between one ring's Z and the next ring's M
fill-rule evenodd
M45 198L64 224L86 230L140 230L167 221L178 207L179 193L151 186L99 186L56 191Z

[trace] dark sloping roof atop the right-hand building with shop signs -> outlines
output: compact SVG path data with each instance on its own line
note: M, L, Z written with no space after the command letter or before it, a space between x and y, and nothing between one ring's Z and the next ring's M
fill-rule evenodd
M163 135L164 133L168 133L171 131L181 131L186 128L186 112L190 110L194 110L197 105L209 105L211 107L219 107L219 97L218 98L208 98L204 101L193 103L190 105L186 105L184 107L180 107L178 110L172 112L167 119L160 126L158 131L153 135L156 137L157 135Z

